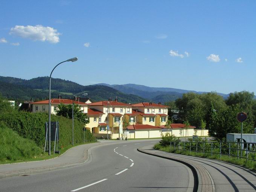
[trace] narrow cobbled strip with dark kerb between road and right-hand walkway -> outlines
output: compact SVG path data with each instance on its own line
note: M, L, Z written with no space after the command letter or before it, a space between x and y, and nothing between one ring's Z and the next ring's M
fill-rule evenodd
M189 160L184 160L182 158L175 157L172 154L160 153L161 151L158 150L147 150L142 148L138 148L137 150L145 154L166 158L169 160L183 163L184 165L188 166L194 175L193 192L215 192L213 180L211 179L209 172L205 168L203 168L203 166Z

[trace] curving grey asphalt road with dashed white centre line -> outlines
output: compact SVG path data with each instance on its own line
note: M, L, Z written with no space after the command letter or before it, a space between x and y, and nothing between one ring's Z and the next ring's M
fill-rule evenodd
M187 166L137 151L153 140L111 143L91 150L83 165L0 180L1 192L192 191Z

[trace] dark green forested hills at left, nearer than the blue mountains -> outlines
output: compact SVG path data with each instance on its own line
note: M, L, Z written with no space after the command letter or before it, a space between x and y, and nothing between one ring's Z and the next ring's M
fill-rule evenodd
M8 99L47 99L49 77L38 77L33 79L20 79L13 77L0 76L0 93ZM114 88L103 85L79 85L72 81L63 79L51 80L52 98L57 98L61 94L62 98L73 98L73 96L82 96L87 93L86 97L91 98L94 102L107 100L108 98L114 99L116 96L118 101L125 103L136 103L147 101L144 98L133 94L122 93Z

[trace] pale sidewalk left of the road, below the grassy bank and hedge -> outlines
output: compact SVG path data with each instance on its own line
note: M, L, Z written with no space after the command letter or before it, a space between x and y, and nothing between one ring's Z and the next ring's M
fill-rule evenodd
M0 165L0 178L11 177L15 175L28 175L35 172L52 171L70 166L76 166L85 163L89 160L90 148L105 143L89 143L85 145L78 145L67 150L64 154L57 158Z

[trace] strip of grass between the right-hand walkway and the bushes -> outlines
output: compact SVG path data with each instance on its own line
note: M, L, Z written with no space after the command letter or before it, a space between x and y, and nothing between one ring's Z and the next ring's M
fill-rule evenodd
M193 151L178 151L177 149L170 149L170 146L162 146L160 143L157 143L154 145L154 149L165 151L165 152L171 152L171 153L177 153L182 155L189 155L189 156L195 156L195 157L203 157L203 158L209 158L209 159L216 159L221 160L224 162L233 163L235 165L244 166L246 168L252 169L253 171L256 171L256 161L248 160L246 159L237 159L235 157L230 157L228 155L222 155L221 158L219 155L212 155L209 153L203 154L202 152L193 152Z

